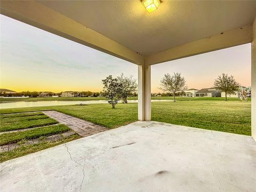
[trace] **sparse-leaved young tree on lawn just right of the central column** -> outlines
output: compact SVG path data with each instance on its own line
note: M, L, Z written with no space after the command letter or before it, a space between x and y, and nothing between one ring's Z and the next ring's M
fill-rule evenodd
M159 89L172 93L173 101L175 102L175 95L187 89L185 78L180 73L173 73L172 76L164 74Z

